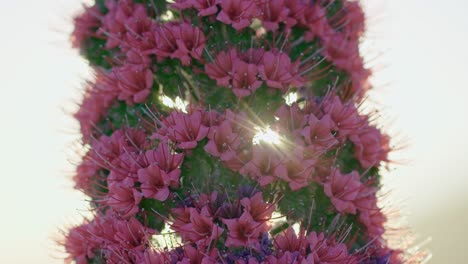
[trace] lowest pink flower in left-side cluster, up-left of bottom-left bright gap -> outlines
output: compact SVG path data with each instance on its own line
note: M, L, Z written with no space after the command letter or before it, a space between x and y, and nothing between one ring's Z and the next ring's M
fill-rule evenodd
M105 204L119 212L122 217L127 218L140 210L138 204L141 198L141 193L133 187L133 181L126 179L122 183L109 185L109 193Z

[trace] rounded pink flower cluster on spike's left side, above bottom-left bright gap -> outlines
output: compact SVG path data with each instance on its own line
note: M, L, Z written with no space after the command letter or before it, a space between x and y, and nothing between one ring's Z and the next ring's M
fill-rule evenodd
M76 188L125 218L140 211L143 197L165 201L170 188L179 186L184 155L174 153L167 142L148 147L142 130L122 129L100 137L78 167Z

